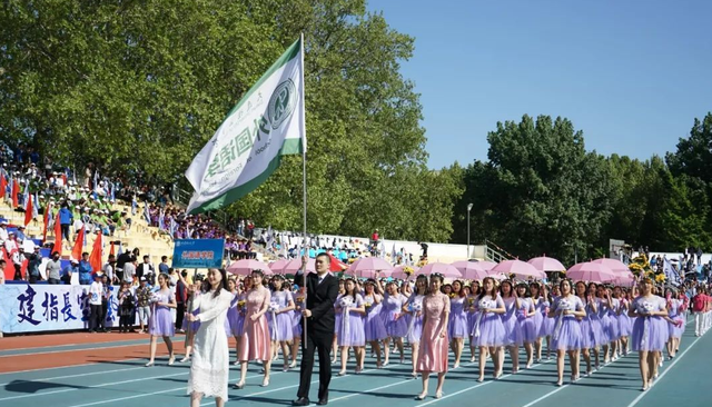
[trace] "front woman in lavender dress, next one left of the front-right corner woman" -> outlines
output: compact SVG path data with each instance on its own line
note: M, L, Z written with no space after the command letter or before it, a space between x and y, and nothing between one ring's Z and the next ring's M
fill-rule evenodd
M578 354L581 351L581 325L576 318L585 318L586 311L578 297L572 292L571 281L558 284L561 297L556 298L548 311L550 318L556 318L552 334L552 347L556 349L556 386L564 383L564 357L568 354L571 363L571 381L578 379Z

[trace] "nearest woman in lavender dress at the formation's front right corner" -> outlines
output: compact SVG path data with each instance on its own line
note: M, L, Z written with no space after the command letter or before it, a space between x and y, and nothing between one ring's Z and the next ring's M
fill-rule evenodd
M637 351L643 391L657 377L657 365L668 341L665 299L653 295L653 280L640 282L640 297L633 300L629 316L636 317L631 332L631 348Z

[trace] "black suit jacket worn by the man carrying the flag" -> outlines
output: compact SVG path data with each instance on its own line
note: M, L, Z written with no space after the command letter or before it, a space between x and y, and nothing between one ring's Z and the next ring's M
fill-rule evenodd
M338 278L327 274L324 281L319 284L316 272L307 275L307 309L312 311L312 317L307 319L307 331L334 335L336 318L334 304L338 296Z

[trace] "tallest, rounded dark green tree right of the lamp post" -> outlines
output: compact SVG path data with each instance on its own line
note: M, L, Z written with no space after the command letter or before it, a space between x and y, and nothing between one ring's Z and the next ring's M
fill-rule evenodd
M585 151L583 133L566 119L524 116L497 123L487 139L490 162L467 168L473 178L456 206L472 200L475 237L486 232L523 258L592 252L611 216L610 170L603 157Z

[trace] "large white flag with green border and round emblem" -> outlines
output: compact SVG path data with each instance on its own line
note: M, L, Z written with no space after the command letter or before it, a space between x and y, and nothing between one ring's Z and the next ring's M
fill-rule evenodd
M230 110L186 171L196 190L188 214L227 206L259 187L281 156L306 151L303 39Z

